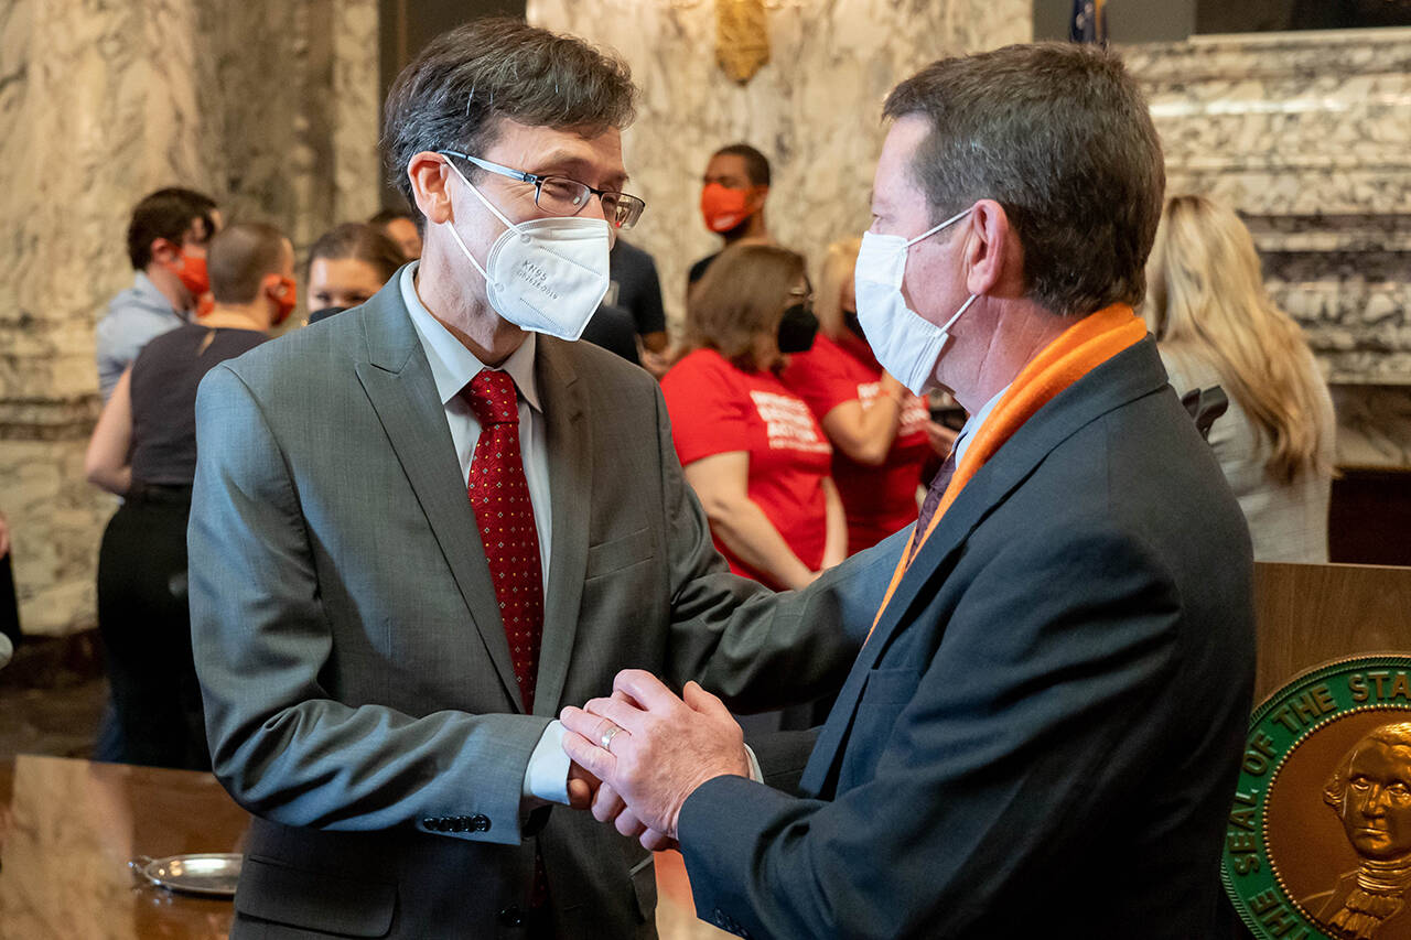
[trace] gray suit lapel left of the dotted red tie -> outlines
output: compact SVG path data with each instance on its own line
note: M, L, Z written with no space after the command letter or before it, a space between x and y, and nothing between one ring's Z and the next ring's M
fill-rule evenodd
M361 312L368 360L357 363L357 377L440 545L505 693L518 709L519 685L490 565L461 483L446 412L420 339L402 303L399 281L399 275L392 277Z

